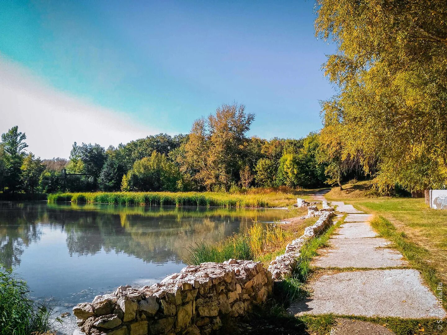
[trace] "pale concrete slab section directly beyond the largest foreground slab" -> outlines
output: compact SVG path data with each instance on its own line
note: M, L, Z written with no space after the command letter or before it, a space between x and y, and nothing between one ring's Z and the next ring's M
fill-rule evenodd
M320 249L312 261L320 268L390 268L407 266L402 254L386 248L387 239L330 239L330 249Z

